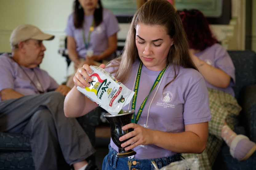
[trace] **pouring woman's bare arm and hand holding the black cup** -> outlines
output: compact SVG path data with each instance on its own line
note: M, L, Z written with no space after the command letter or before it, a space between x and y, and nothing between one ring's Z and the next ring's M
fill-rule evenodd
M123 126L122 130L129 128L134 130L119 138L120 141L128 139L121 145L125 150L153 144L177 153L202 153L208 137L208 122L185 125L185 132L181 133L150 130L135 123Z

